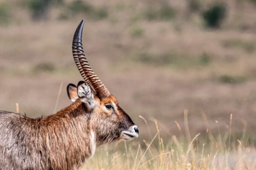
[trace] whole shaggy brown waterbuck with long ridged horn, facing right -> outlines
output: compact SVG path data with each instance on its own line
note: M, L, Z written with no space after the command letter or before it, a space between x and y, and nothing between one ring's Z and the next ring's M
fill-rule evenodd
M84 20L73 37L73 57L85 82L69 84L72 103L44 118L0 111L0 170L78 168L101 144L130 140L139 130L84 56Z

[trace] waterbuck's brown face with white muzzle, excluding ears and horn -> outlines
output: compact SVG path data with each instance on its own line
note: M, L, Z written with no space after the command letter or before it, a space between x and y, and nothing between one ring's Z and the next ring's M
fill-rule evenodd
M96 99L98 97L95 97ZM99 98L98 98L99 99ZM139 130L128 114L119 107L113 95L99 99L91 120L95 123L98 141L106 143L116 140L130 140L139 136Z

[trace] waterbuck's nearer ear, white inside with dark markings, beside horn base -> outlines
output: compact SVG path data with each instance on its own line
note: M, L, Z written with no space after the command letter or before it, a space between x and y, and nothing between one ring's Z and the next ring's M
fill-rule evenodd
M94 100L93 93L89 86L85 83L81 84L77 88L77 94L82 102L84 102L88 108L94 108L96 101Z

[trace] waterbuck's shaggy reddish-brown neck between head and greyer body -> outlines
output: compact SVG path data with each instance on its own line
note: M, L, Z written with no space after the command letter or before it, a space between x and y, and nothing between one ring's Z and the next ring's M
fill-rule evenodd
M95 133L90 127L90 113L80 100L41 122L47 134L45 147L52 153L49 157L55 157L52 161L56 161L56 164L63 161L63 166L65 164L72 169L93 156L96 149Z

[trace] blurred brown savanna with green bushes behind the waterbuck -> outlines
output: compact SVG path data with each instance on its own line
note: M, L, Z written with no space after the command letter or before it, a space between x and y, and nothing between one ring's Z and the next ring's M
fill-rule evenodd
M233 114L232 135L246 127L254 139L256 0L1 0L0 110L53 114L61 82L58 110L70 104L82 19L87 59L138 125L137 140L154 136L153 119L161 136L179 134L184 109L191 136L228 132Z

